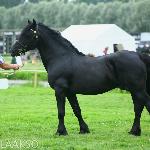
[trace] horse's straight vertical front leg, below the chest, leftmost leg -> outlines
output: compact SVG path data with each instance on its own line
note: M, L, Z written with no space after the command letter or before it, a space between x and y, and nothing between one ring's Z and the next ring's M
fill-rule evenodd
M58 109L58 129L56 134L58 135L67 135L67 130L64 125L64 116L65 116L65 93L62 88L55 87L55 96L57 100L57 109Z

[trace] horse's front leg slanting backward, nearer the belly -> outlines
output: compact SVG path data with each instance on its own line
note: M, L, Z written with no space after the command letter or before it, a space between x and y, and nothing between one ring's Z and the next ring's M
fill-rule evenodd
M68 101L69 101L69 103L73 109L75 116L78 118L79 125L80 125L80 133L81 134L89 133L90 132L89 128L82 118L81 109L80 109L76 95L68 93L67 98L68 98Z

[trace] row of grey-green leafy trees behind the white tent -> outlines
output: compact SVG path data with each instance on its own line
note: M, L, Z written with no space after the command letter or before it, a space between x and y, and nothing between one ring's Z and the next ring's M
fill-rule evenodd
M35 18L52 28L66 28L71 24L114 23L130 33L147 32L150 31L149 8L149 0L126 3L114 0L97 4L44 0L11 8L0 7L0 29L21 29L27 19Z

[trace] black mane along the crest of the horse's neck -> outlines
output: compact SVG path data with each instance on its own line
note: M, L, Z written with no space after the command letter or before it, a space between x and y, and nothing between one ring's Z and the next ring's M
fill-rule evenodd
M61 33L59 31L56 31L54 29L50 29L49 27L47 27L46 25L39 23L39 26L42 26L45 28L45 30L47 32L50 32L50 34L52 36L54 36L57 40L61 41L62 44L64 44L66 47L68 47L70 50L72 50L73 52L85 56L85 54L83 54L82 52L79 52L77 48L75 48L71 42L69 42L67 39L65 39L64 37L61 36Z

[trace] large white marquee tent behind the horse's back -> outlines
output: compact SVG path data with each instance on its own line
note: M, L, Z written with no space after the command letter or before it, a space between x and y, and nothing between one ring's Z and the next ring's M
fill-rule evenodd
M134 38L115 24L71 25L61 34L84 54L104 55L106 47L108 54L113 53L114 44L125 50L136 49Z

